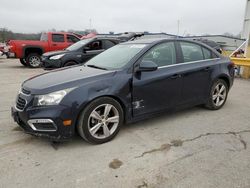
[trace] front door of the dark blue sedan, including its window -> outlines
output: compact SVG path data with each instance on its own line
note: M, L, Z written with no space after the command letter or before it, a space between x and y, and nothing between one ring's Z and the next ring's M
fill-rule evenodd
M172 108L180 101L182 78L176 64L174 42L152 47L140 60L153 61L158 69L133 76L133 115L145 115Z

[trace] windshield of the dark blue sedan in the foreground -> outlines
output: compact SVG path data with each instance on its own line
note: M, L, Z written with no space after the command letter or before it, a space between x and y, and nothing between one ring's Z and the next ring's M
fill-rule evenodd
M120 69L124 67L145 44L121 44L116 45L98 56L89 60L85 65L100 67L103 69Z

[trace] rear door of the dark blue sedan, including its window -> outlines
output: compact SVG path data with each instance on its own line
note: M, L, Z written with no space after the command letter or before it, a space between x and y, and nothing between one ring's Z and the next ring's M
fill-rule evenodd
M182 54L182 62L179 65L183 79L181 102L183 104L202 103L209 93L216 55L197 43L180 41L178 44Z

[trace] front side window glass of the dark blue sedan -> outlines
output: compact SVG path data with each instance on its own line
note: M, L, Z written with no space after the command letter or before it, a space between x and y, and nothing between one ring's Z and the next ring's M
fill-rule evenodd
M159 44L150 49L143 60L155 62L159 67L176 63L175 45L173 42Z

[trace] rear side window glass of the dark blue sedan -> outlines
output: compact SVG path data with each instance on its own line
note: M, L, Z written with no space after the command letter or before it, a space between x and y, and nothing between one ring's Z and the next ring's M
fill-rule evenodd
M201 46L190 42L180 42L184 62L203 60Z

